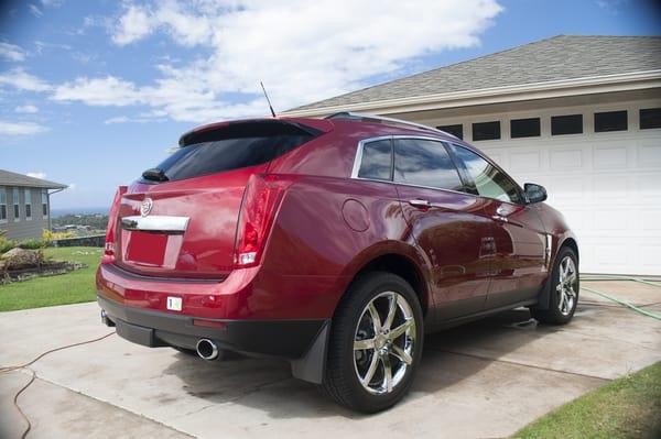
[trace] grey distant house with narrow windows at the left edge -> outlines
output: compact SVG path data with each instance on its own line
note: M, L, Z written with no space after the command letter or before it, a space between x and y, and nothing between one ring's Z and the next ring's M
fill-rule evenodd
M43 229L51 228L51 194L66 187L0 169L0 230L7 230L4 237L40 238Z

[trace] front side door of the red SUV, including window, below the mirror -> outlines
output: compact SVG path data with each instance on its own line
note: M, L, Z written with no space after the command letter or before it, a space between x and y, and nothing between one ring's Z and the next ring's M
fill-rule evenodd
M485 201L495 254L487 309L535 297L548 276L548 235L534 206L501 169L476 152L453 144L469 185Z

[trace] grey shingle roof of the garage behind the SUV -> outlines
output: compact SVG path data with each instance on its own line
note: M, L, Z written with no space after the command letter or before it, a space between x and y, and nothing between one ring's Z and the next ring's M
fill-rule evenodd
M559 35L290 111L659 69L661 36Z

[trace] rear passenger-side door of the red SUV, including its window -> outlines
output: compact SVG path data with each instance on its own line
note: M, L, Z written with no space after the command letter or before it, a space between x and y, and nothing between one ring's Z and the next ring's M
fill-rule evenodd
M444 143L395 136L393 149L393 182L404 218L432 274L434 320L483 310L492 253L484 200L464 191Z

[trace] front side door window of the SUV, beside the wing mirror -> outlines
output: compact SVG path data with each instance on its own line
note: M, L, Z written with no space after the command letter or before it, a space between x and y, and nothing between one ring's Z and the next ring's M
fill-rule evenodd
M456 145L454 150L475 182L475 188L479 195L501 201L521 202L521 196L514 183L498 168L470 150Z

